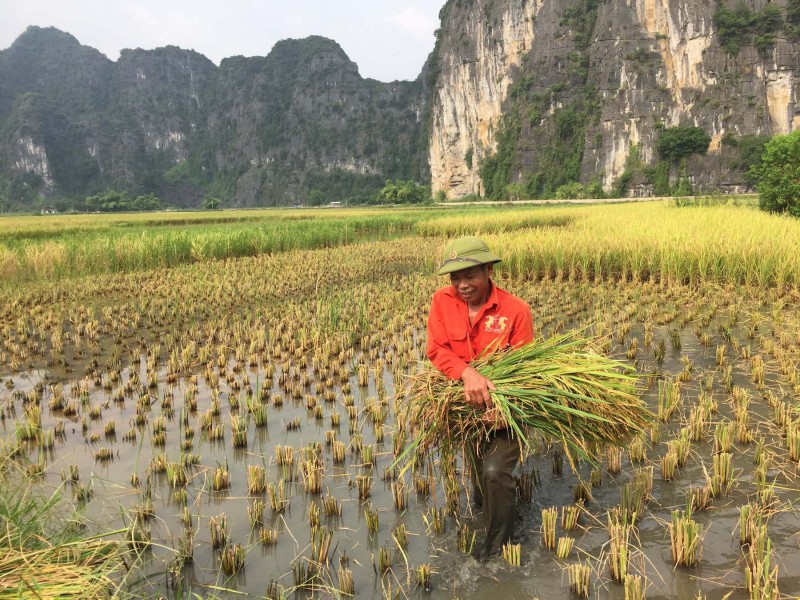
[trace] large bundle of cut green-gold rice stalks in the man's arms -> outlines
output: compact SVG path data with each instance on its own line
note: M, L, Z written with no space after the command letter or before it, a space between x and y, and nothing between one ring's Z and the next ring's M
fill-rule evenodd
M437 445L477 450L493 431L507 427L523 455L528 434L537 431L560 441L575 468L573 455L597 462L602 446L624 445L653 418L637 393L633 369L593 351L580 332L488 353L471 364L497 387L493 407L467 404L461 382L433 367L411 376L406 418L414 440L401 459Z

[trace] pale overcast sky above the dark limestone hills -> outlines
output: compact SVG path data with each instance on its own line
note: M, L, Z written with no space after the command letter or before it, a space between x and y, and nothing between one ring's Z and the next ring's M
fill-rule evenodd
M265 56L285 38L339 42L363 77L415 79L444 0L0 0L0 49L28 25L53 26L116 60L122 48L174 45L219 64Z

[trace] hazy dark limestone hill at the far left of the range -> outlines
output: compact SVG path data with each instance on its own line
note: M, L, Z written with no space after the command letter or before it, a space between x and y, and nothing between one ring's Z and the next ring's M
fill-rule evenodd
M28 31L0 52L0 193L75 193L96 175L81 121L107 103L109 61L69 34Z

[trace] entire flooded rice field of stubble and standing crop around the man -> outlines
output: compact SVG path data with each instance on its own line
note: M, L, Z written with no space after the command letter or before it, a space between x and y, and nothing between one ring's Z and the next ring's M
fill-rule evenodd
M0 220L3 489L120 532L131 571L108 595L798 594L796 221L667 203L239 216ZM486 563L448 493L469 469L396 464L431 273L463 233L505 259L496 281L537 335L589 332L657 415L574 471L532 439L519 535Z

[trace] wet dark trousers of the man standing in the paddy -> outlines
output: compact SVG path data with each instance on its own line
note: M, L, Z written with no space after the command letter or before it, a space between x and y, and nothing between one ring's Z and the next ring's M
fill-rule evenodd
M517 484L514 467L519 461L519 442L499 431L479 457L472 456L475 502L483 506L486 541L483 553L499 550L511 539L517 518Z

